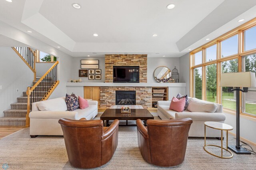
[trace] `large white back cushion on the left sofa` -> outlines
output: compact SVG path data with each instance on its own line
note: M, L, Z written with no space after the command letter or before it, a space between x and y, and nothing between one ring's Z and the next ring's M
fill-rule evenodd
M64 97L56 99L49 99L36 103L36 106L40 111L66 111L68 107L66 105Z

